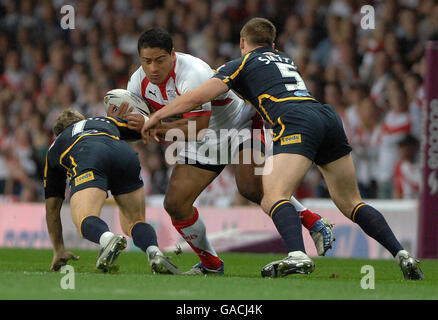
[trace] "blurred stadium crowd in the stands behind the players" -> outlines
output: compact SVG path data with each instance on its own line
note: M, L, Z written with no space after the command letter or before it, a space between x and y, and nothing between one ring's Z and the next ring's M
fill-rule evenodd
M75 9L63 29L61 7ZM375 28L361 28L372 5ZM126 88L138 68L137 39L148 27L168 30L176 51L213 68L240 55L239 30L253 16L277 26L312 94L333 105L347 131L365 198L413 198L419 191L425 41L438 38L434 0L0 0L0 195L42 201L51 124L66 108L105 114L104 94ZM148 194L163 194L171 167L164 146L134 144ZM233 173L201 195L245 204ZM298 198L327 197L318 171Z

